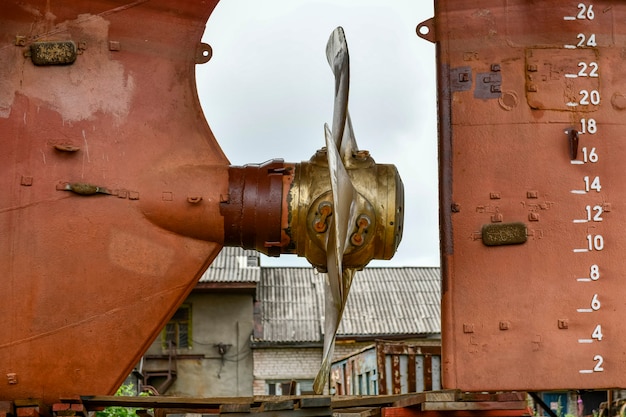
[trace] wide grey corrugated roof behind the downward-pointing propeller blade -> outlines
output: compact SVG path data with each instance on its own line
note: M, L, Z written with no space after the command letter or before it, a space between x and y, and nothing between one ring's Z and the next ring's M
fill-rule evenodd
M320 342L324 280L313 268L262 268L257 298L265 342ZM441 333L439 268L365 268L356 273L339 336Z

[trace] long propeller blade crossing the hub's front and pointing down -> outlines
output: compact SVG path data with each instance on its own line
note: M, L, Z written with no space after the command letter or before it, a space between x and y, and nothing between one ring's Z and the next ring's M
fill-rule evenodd
M324 125L326 148L328 153L328 169L333 194L332 226L326 242L327 276L325 290L324 315L324 351L322 366L313 383L313 390L321 394L328 380L330 363L333 356L335 337L341 321L343 310L348 301L348 293L354 276L354 269L344 269L343 254L349 244L350 225L356 222L355 206L358 193L350 176L343 166L339 151L333 146L332 133L328 125Z

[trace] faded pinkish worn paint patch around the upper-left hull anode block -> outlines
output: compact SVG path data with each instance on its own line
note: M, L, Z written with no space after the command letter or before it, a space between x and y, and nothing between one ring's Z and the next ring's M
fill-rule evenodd
M89 120L96 113L113 116L122 123L129 113L135 81L108 50L109 22L100 16L79 15L56 25L51 37L69 38L80 32L87 49L72 65L36 67L23 57L23 48L4 48L0 59L10 62L7 77L0 80L0 117L8 118L17 94L58 112L63 121Z

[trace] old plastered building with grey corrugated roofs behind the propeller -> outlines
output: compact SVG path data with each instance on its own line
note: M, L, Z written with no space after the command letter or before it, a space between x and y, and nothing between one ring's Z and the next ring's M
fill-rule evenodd
M261 267L224 248L154 341L140 371L168 395L311 392L322 357L324 274ZM440 346L439 268L366 268L352 284L335 358L375 340Z

